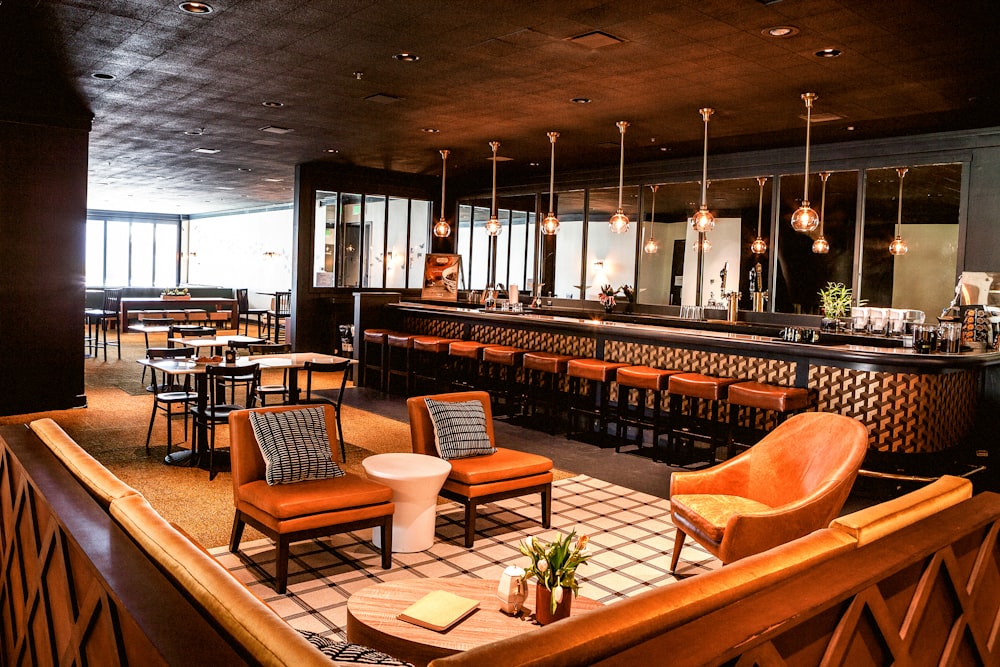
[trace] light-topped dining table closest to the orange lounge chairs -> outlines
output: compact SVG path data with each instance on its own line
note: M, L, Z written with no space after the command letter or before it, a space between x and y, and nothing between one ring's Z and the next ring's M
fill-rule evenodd
M185 341L187 342L187 341ZM321 352L289 352L285 354L256 354L239 357L236 362L210 362L204 358L193 359L146 359L138 360L143 366L155 368L167 375L191 375L195 381L195 392L197 394L197 405L204 413L208 407L208 373L206 368L212 366L250 366L258 364L261 369L277 368L288 371L288 404L293 405L299 402L299 371L305 368L307 361L315 361L324 364L349 361L356 364L357 361L347 357L338 357ZM208 427L201 423L194 429L194 442L190 449L182 449L171 452L164 457L163 462L167 465L189 465L197 466L208 454Z

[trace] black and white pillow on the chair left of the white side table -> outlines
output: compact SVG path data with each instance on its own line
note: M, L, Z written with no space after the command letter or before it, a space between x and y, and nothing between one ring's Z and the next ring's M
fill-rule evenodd
M344 476L330 451L323 408L251 412L250 426L264 455L268 484Z

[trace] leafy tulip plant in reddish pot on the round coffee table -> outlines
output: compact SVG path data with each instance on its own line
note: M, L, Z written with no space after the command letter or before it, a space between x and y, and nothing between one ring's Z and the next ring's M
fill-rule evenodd
M523 579L538 580L535 585L535 620L546 625L569 616L573 597L580 593L576 568L587 562L589 538L576 536L573 530L552 542L541 542L532 537L522 540L518 548L531 559L524 569ZM567 594L567 591L569 594Z

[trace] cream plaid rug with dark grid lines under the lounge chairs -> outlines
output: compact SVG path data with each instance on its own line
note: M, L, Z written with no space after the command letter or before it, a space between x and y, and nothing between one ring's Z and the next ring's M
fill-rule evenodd
M517 550L521 539L551 539L557 531L590 536L593 557L577 572L581 595L607 604L676 581L670 574L674 527L668 501L586 475L554 482L552 495L551 530L538 522L537 495L481 506L473 549L462 546L461 506L439 505L434 545L393 554L389 570L380 567L370 530L293 544L285 595L272 588L270 540L243 544L241 556L226 547L212 554L292 627L331 639L346 638L347 599L365 586L412 577L499 579L506 566L526 564ZM677 573L684 578L719 566L688 540Z

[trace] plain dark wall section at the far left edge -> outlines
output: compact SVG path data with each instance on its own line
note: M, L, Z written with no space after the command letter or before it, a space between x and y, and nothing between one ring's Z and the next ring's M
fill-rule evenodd
M79 407L87 131L0 121L0 414Z

